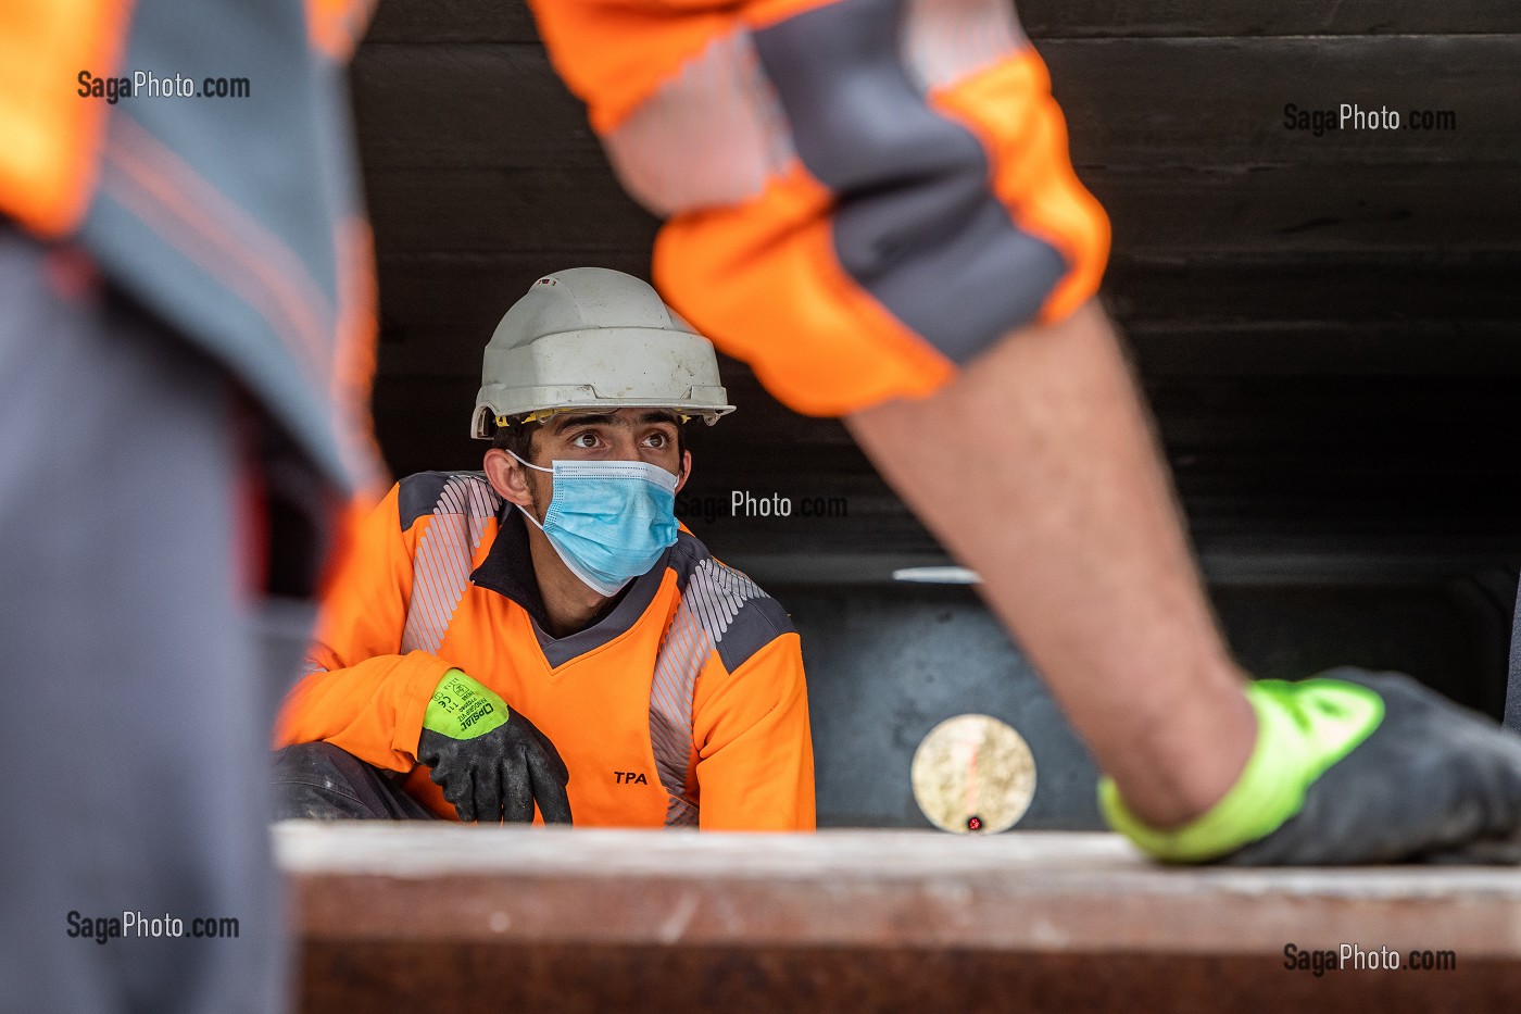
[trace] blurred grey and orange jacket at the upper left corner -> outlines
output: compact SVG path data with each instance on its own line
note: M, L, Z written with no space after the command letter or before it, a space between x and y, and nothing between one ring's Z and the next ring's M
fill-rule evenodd
M374 266L344 64L371 6L0 0L0 218L82 245L364 487ZM176 76L230 94L166 97Z

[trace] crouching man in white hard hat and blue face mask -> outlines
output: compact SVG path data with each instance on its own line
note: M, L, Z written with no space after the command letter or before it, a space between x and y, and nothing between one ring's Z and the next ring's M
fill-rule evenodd
M325 595L278 815L812 828L797 633L672 513L683 422L730 411L646 283L535 282L485 350L484 470L397 483Z

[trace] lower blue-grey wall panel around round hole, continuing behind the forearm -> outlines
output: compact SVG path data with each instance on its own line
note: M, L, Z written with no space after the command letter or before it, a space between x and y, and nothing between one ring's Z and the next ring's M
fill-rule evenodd
M803 643L821 825L928 828L910 789L914 749L945 719L981 713L1011 725L1034 754L1036 795L1021 830L1103 827L1092 760L970 589L767 591ZM1302 679L1337 664L1393 668L1498 716L1509 617L1472 583L1211 591L1237 658L1258 678Z

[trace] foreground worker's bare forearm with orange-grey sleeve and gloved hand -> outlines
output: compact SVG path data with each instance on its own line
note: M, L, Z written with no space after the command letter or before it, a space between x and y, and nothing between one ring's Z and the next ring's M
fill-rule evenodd
M1164 860L1518 854L1521 740L1230 658L1113 327L1109 227L1008 0L531 0L672 306L843 416L983 576Z

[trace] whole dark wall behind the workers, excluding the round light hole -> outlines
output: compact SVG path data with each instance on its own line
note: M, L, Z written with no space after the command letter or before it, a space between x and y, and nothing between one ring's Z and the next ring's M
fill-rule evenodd
M1133 346L1221 620L1253 671L1405 668L1498 713L1521 560L1521 9L1507 0L1031 0L1021 17L1115 250ZM376 417L397 474L475 467L481 349L541 274L648 277L622 195L517 2L386 0L353 70L380 259ZM1284 107L1451 110L1310 131ZM683 519L805 635L821 819L920 822L907 757L984 709L1036 748L1027 819L1091 813L1084 761L840 423L724 361ZM735 518L733 490L834 502ZM975 562L972 562L975 565Z

